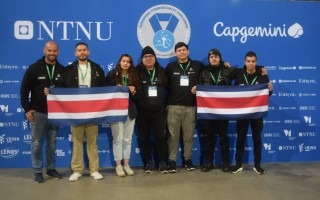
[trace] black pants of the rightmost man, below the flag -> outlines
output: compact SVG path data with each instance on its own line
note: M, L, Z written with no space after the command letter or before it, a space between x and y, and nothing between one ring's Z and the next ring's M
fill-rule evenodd
M236 162L237 164L242 164L242 158L244 153L244 145L246 136L249 129L249 124L252 131L253 140L253 152L254 152L254 162L255 164L260 164L261 162L261 132L263 129L262 118L258 119L245 119L237 120L237 152L236 152Z

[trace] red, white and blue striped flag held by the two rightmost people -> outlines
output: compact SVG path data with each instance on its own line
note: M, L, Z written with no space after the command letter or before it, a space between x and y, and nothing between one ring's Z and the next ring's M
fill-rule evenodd
M267 84L197 85L198 119L254 119L268 115Z

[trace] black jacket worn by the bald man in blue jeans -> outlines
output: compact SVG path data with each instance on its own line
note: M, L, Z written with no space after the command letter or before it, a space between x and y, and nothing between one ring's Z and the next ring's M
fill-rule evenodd
M61 86L64 67L57 62L54 68L52 83L50 81L45 57L42 57L30 65L23 76L20 88L21 106L25 112L34 109L37 112L48 113L47 97L44 95L44 88L52 85ZM49 73L52 72L52 65L48 65ZM31 99L29 100L29 92Z

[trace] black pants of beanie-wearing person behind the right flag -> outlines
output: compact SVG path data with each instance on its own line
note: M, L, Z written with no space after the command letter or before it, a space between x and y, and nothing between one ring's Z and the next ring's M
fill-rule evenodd
M216 134L220 137L221 159L223 165L229 165L228 120L203 120L207 135L206 163L213 162L216 146Z

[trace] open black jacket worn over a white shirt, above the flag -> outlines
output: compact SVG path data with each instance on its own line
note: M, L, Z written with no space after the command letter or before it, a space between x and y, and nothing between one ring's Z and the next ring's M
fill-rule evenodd
M91 67L91 87L106 86L104 71L101 66L91 60L88 60L88 62L90 62ZM75 61L67 66L63 75L63 87L79 87L78 63L78 61Z

